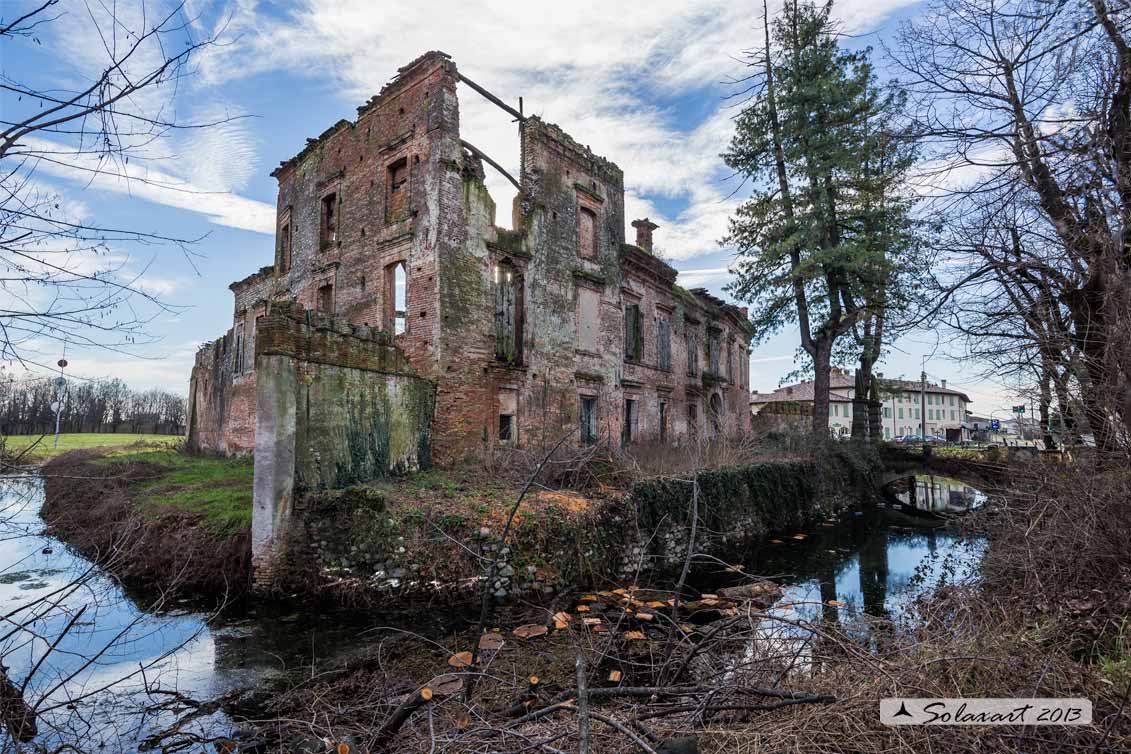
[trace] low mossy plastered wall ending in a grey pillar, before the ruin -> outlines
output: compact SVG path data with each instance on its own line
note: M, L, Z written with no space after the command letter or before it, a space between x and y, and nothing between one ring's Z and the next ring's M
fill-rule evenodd
M251 546L264 584L296 496L431 463L434 387L387 333L290 302L260 318L256 366Z

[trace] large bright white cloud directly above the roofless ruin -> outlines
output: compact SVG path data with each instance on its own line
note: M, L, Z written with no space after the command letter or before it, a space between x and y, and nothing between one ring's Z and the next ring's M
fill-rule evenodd
M845 0L835 12L844 31L862 32L915 2ZM200 71L210 84L276 70L314 73L360 103L397 67L426 50L443 50L478 84L516 104L521 95L527 113L561 124L618 163L629 194L625 220L648 214L659 223L657 245L665 255L689 259L718 250L737 200L722 184L718 153L733 111L723 107L717 85L742 71L734 57L761 38L759 5L303 0L280 11L241 0L221 7L236 41L202 59ZM703 92L718 103L693 127L679 123L674 106L657 104ZM509 116L465 87L460 119L464 138L517 174L517 129ZM487 173L499 223L507 225L513 187ZM687 208L664 217L649 196Z

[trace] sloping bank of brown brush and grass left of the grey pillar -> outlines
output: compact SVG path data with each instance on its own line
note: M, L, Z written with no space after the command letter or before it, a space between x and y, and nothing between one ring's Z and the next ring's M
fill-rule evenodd
M235 598L250 584L251 459L88 450L44 465L49 531L126 584Z

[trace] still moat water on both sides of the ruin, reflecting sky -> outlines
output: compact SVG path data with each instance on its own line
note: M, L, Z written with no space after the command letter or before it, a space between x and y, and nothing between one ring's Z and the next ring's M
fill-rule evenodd
M938 478L924 477L918 500L944 496L950 505L951 482L939 486ZM188 605L140 604L42 534L42 503L40 479L0 477L0 660L17 686L35 668L25 699L40 716L35 743L49 749L77 742L83 751L146 751L148 736L190 709L169 692L213 699L364 641L363 626L328 614L260 608L232 618ZM788 584L776 608L783 615L846 624L866 615L899 617L941 579L972 573L983 543L960 538L938 518L909 515L909 505L893 505L779 535L752 548L744 570ZM722 575L698 579L703 591L725 582ZM434 617L430 613L430 622ZM412 625L411 616L405 624ZM222 713L201 716L163 743L184 740L185 751L199 751L191 748L193 737L231 728ZM0 753L15 751L21 749L0 730Z

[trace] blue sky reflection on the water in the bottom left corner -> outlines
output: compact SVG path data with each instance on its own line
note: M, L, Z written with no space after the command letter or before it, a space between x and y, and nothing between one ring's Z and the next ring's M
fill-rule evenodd
M207 699L233 678L216 673L205 615L143 609L101 569L42 534L42 480L0 478L0 657L12 683L26 679L36 743L137 751L171 719L139 714L167 701L158 690ZM202 718L195 729L218 722Z

